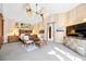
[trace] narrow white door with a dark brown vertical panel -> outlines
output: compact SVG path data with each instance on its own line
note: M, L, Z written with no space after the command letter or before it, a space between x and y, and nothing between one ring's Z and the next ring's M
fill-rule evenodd
M53 23L48 24L48 41L54 41Z

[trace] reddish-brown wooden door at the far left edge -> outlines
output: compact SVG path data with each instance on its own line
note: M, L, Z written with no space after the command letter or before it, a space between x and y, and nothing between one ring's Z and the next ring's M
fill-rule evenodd
M3 43L3 16L0 13L0 49L2 47Z

